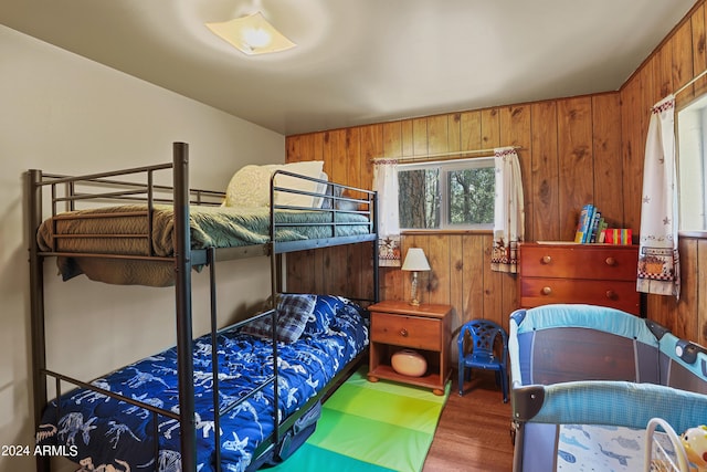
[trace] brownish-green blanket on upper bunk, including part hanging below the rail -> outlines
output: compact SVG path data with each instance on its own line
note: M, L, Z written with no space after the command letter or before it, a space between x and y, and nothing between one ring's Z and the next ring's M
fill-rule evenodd
M60 213L45 220L38 231L41 251L80 253L60 256L57 265L64 280L85 273L89 279L114 284L168 286L173 284L172 261L92 258L98 254L131 256L173 255L175 213L171 206L156 206L151 238L146 206L119 206ZM369 232L368 218L356 213L326 211L275 212L277 223L305 223L278 228L277 241L355 235ZM191 248L235 248L270 241L268 208L190 207ZM150 253L150 244L152 252Z

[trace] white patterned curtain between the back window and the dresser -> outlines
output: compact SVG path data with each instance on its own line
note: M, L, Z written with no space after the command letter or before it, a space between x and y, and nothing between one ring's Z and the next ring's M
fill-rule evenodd
M496 191L494 247L490 268L497 272L518 272L518 243L525 235L523 180L518 154L513 147L494 149Z

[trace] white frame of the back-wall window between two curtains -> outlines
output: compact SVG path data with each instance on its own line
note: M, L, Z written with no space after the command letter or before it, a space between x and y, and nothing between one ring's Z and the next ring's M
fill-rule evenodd
M410 231L493 231L494 221L489 223L471 223L471 224L451 224L450 220L450 185L449 174L452 171L490 168L495 169L495 157L493 154L477 157L455 158L455 159L436 159L412 162L398 162L398 172L405 170L423 170L439 168L439 188L440 188L440 227L439 228L408 228L400 222L400 230ZM495 183L494 183L495 187ZM400 197L400 192L398 193ZM493 220L493 217L492 217Z

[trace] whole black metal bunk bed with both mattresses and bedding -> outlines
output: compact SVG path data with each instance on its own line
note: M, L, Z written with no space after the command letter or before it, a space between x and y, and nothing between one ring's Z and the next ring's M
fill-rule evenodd
M170 164L87 176L27 172L38 443L67 448L83 470L244 471L285 460L366 354L362 306L379 298L376 193L275 170L267 209L236 210L225 192L190 189L189 146L172 151ZM156 183L160 172L171 186ZM282 292L282 254L358 243L371 247L369 298ZM267 305L219 327L214 265L253 255L270 259ZM48 258L64 280L173 285L176 346L92 381L48 369ZM197 339L192 270L209 272L211 297L211 332ZM49 468L38 457L38 470Z

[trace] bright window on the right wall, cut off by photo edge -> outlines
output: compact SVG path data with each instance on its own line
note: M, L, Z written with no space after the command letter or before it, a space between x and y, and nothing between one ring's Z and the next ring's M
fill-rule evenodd
M677 178L679 188L679 225L683 231L707 230L707 97L679 112Z

